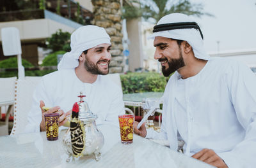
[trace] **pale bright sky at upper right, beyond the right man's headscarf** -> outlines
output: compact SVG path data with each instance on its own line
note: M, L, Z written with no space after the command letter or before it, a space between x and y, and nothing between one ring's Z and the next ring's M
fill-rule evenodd
M191 0L214 17L195 18L207 52L256 50L256 0ZM219 42L219 45L217 43Z

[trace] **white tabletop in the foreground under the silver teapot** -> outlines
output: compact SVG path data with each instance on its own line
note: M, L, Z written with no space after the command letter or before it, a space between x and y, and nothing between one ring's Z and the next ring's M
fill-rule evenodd
M41 132L0 137L0 167L212 167L136 135L132 144L122 144L118 128L109 125L98 128L105 138L99 162L93 157L65 162L63 131L57 141L47 141L45 132Z

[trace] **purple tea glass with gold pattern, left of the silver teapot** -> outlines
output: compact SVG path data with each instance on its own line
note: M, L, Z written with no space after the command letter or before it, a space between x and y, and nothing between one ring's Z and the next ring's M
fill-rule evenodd
M58 113L45 114L45 129L48 141L55 141L58 139L59 132L59 117Z

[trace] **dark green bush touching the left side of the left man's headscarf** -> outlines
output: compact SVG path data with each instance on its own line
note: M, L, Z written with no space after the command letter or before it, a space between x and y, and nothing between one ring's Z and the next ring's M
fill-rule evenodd
M59 29L56 33L52 34L51 38L47 39L47 48L53 52L65 51L70 52L70 33L62 32Z

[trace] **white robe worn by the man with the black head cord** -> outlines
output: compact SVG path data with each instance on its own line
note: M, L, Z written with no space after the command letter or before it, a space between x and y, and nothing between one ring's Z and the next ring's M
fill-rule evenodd
M200 73L182 80L175 72L164 91L161 132L177 150L177 134L186 154L214 150L229 168L256 165L256 76L230 59L208 60Z

